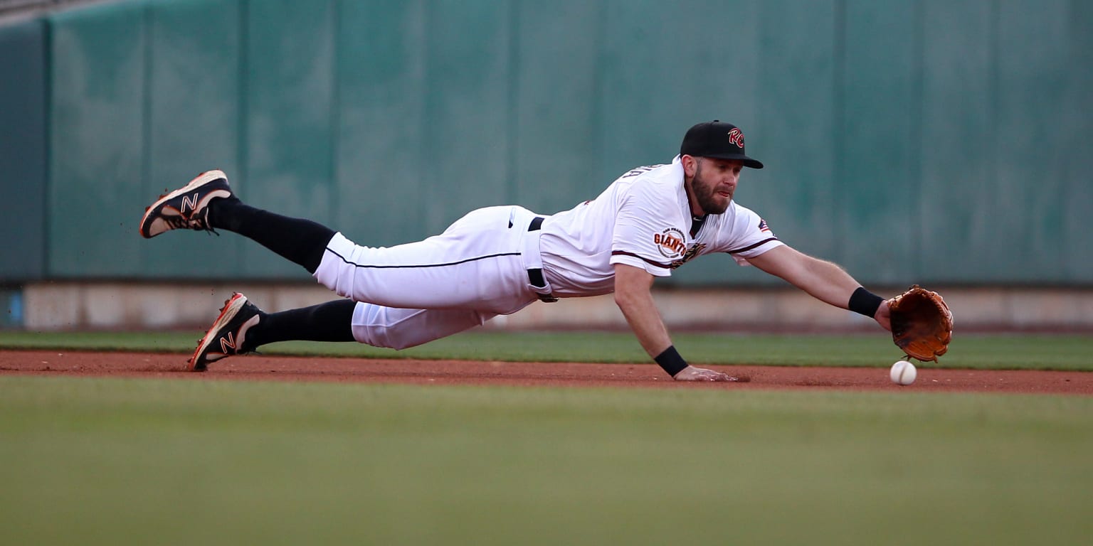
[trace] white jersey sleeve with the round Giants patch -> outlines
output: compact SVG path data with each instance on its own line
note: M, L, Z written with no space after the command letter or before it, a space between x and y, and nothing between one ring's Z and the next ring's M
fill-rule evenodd
M654 276L671 275L672 262L686 251L679 228L674 190L649 179L635 180L618 197L619 212L611 235L610 263L643 269Z

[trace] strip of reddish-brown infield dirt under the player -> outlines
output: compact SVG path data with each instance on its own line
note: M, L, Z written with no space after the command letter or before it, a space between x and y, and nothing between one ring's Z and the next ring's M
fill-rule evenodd
M331 381L525 387L670 388L727 390L850 390L1093 394L1093 373L1081 371L945 370L919 366L918 380L900 387L881 368L714 366L739 383L671 381L656 365L380 360L242 356L203 373L184 371L185 355L154 353L0 352L0 375L136 377L181 380Z

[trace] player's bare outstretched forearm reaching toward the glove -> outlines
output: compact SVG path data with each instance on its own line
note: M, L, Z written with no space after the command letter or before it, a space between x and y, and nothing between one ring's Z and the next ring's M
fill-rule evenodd
M850 297L861 287L849 273L835 263L813 258L788 246L773 248L748 261L812 297L841 309L849 309ZM875 298L877 296L870 296ZM854 310L854 309L851 309ZM888 301L881 301L872 318L881 328L892 330Z

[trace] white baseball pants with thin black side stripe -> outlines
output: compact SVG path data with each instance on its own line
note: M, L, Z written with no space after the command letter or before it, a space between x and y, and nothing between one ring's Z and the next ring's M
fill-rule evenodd
M520 206L479 209L443 234L396 247L362 247L342 234L327 244L315 278L357 301L353 336L406 348L516 312L550 293L533 289L542 268L534 213ZM544 292L545 290L545 292Z

